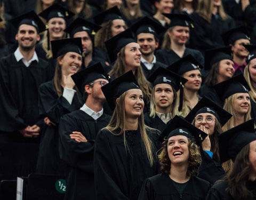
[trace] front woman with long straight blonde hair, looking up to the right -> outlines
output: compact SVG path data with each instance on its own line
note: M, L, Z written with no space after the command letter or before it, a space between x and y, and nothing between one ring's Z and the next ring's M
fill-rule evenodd
M143 181L158 173L159 131L144 124L143 94L129 71L101 87L113 116L94 150L98 199L138 199Z

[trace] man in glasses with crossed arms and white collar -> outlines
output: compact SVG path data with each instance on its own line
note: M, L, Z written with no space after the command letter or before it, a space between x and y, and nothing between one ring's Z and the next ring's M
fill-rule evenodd
M65 199L95 199L94 141L98 131L107 126L111 118L103 112L106 98L101 91L109 76L101 63L97 63L71 77L85 103L60 119L59 152L60 158L67 163Z

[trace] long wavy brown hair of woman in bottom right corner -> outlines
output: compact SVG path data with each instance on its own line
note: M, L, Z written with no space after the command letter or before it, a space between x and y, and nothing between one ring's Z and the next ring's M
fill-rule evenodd
M250 143L237 154L233 168L228 172L226 192L236 200L253 199L253 194L246 188L246 182L252 169L249 160Z

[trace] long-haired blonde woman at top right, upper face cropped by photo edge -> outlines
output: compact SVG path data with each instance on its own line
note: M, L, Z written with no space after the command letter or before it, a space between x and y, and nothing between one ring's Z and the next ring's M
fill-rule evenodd
M221 34L233 28L235 21L225 13L222 1L201 0L197 8L190 15L195 29L191 31L189 46L200 51L223 46Z

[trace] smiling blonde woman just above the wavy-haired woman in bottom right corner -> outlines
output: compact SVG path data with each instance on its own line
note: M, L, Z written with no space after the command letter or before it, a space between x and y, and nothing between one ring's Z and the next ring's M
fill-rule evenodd
M219 98L225 102L223 109L233 115L222 127L223 131L228 131L251 119L251 102L249 95L251 89L242 74L214 85L213 87ZM222 164L226 172L231 169L232 165L233 162L231 162L231 160Z

